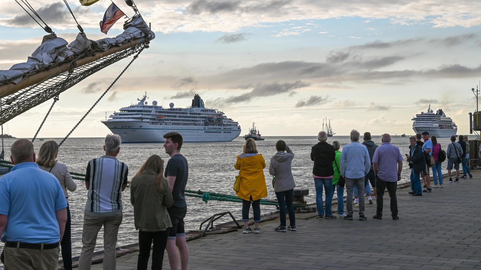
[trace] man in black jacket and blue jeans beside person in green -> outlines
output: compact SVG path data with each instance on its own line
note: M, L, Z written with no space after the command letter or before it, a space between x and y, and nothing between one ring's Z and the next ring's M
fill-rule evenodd
M334 169L332 162L336 157L334 147L327 143L328 135L321 131L317 135L319 142L312 147L311 160L314 161L314 168L312 174L314 177L314 184L316 187L316 206L318 219L324 219L324 209L322 201L322 187L324 185L326 194L326 219L334 219L331 213L332 204L332 176Z

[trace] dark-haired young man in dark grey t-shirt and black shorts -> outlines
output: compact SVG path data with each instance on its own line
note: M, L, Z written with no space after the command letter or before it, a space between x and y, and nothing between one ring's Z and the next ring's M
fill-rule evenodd
M164 135L165 153L169 154L170 160L167 162L164 176L169 182L170 190L174 204L167 209L172 221L172 227L169 230L167 239L167 256L169 258L170 269L178 269L178 253L180 255L180 267L187 270L189 263L189 249L185 239L184 217L187 213L187 204L185 202L185 186L189 176L189 166L187 160L180 154L180 148L183 144L182 135L177 132L169 132ZM177 248L176 248L177 246Z

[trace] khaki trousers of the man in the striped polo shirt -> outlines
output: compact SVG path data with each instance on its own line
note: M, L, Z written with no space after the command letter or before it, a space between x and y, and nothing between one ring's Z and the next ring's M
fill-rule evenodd
M103 270L115 270L115 246L117 233L122 223L122 214L110 217L92 217L84 214L82 231L82 252L78 259L78 270L90 270L92 254L97 243L97 235L103 226Z

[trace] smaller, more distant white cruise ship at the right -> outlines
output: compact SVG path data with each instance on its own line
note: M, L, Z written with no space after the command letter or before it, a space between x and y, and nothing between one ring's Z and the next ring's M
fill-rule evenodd
M421 111L412 120L414 121L413 130L415 133L427 131L429 136L443 138L456 135L457 132L457 126L453 120L447 117L441 109L434 113L431 110L431 105L429 105L427 112Z

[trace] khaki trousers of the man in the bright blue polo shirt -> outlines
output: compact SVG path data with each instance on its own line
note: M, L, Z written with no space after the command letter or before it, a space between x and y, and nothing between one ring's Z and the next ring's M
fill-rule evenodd
M5 247L5 270L57 270L59 248L29 249Z

